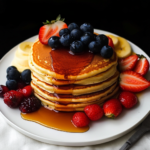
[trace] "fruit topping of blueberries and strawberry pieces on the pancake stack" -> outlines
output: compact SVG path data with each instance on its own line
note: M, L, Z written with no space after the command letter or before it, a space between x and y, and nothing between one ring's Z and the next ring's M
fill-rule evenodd
M94 34L94 28L90 23L83 23L79 26L73 22L67 25L58 16L56 20L47 21L44 24L39 31L39 40L41 43L52 47L52 50L67 47L73 54L89 50L106 59L113 55L111 38L104 34Z

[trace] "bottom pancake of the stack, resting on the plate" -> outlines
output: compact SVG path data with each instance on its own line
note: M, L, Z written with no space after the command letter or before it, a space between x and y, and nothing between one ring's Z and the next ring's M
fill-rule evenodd
M113 95L115 95L119 90L119 87L116 87L112 92L108 92L105 96L102 96L100 99L97 99L96 101L92 102L86 102L86 103L74 103L74 104L60 104L60 103L54 103L51 102L43 97L41 97L39 94L35 93L35 96L37 96L41 102L42 105L48 109L51 110L57 110L57 111L84 111L84 107L90 104L98 104L101 105L104 103L105 100L111 98Z

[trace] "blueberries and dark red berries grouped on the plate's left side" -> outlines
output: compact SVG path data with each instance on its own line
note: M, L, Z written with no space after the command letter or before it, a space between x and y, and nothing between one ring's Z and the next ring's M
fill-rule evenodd
M33 96L31 82L31 71L29 69L20 73L16 67L7 68L7 82L0 85L0 97L4 98L4 103L11 107L19 107L23 113L30 113L40 108L41 102Z

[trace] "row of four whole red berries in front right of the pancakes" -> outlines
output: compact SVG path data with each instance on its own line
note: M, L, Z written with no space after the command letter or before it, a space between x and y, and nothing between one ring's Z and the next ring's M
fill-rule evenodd
M116 118L122 112L122 106L130 109L138 102L137 96L128 91L122 91L118 99L110 99L103 104L101 108L97 104L88 105L84 112L76 112L73 115L72 122L76 127L89 125L90 120L96 121L105 115L108 118Z

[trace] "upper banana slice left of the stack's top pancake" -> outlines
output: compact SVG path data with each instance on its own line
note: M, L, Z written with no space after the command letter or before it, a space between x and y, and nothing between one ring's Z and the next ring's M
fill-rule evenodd
M18 51L20 54L29 55L29 51L33 45L33 42L22 42L18 46Z

